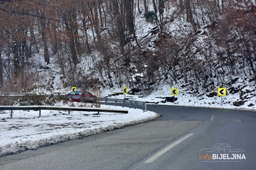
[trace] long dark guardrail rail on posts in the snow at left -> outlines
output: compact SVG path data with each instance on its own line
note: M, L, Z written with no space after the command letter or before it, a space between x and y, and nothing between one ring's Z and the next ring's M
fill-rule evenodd
M41 116L42 110L68 111L68 114L70 114L70 111L88 111L88 112L97 111L97 113L100 113L100 112L128 113L128 111L111 110L111 109L105 109L105 108L78 108L78 107L57 107L57 106L0 106L0 110L11 111L11 118L13 117L13 111L27 111L27 110L39 111L39 117Z

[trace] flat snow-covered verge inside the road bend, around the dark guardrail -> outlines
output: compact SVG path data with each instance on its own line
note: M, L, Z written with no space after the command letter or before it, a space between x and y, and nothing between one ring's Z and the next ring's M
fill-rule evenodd
M151 111L142 111L121 106L104 106L101 108L124 109L123 113L93 113L73 111L14 111L10 118L9 111L0 113L0 157L16 154L28 149L37 149L58 142L76 140L96 135L109 130L136 125L159 118Z

